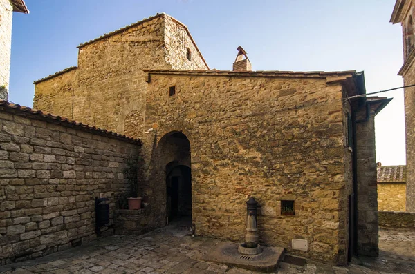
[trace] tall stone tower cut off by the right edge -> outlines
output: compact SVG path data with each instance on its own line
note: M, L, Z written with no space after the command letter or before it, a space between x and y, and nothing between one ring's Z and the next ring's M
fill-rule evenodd
M403 66L398 75L405 86L415 84L415 7L412 1L397 0L391 23L400 23L403 33ZM415 212L415 87L405 88L405 137L407 163L406 211Z

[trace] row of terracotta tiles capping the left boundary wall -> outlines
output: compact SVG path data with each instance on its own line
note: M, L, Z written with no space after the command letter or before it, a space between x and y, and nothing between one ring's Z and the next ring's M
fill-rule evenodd
M70 120L68 118L55 116L50 113L44 113L41 110L33 110L27 106L20 106L18 104L12 104L8 101L0 99L0 110L4 110L12 113L19 113L28 117L29 119L39 119L49 123L61 124L62 126L68 126L72 128L78 128L80 130L87 131L89 133L94 133L98 135L103 135L105 137L110 137L113 139L122 139L123 141L128 141L129 143L142 144L139 139L127 137L125 135L120 135L119 133L114 133L113 131L105 130L102 128L96 128L95 126L88 126L86 124L78 123L77 121Z

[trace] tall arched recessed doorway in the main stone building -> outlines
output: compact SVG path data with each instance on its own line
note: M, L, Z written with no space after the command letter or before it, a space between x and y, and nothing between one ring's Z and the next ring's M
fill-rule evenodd
M159 178L163 181L167 222L192 217L190 141L180 131L164 135L157 146ZM160 189L161 190L161 189Z

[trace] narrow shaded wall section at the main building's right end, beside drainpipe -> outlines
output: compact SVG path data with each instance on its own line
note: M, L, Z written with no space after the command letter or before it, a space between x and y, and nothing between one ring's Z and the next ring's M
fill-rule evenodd
M375 117L365 121L363 108L356 119L356 153L358 173L358 254L377 256L378 193L376 171Z

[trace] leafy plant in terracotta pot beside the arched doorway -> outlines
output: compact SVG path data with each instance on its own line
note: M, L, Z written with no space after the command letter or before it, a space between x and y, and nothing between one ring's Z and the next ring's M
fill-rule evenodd
M128 159L124 175L128 182L128 209L140 209L142 197L138 197L137 179L138 159Z

